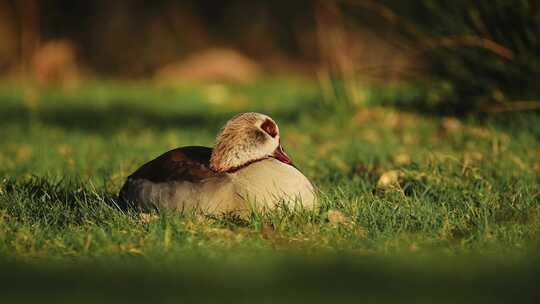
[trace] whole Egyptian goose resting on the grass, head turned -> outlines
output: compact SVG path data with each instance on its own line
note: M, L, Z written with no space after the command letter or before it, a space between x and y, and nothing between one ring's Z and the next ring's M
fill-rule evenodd
M311 208L313 186L293 166L274 120L259 113L233 117L214 149L171 150L131 174L120 190L124 206L245 215L279 204Z

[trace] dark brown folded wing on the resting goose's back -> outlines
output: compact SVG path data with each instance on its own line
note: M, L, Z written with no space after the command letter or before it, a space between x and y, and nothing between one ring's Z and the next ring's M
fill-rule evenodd
M209 167L211 155L212 149L207 147L191 146L174 149L142 165L129 178L146 179L155 183L196 182L216 175Z

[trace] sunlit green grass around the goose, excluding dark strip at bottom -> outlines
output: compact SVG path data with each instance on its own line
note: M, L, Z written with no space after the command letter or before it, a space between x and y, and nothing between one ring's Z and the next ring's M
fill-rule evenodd
M504 123L424 116L377 107L379 95L371 95L371 107L344 110L321 105L313 85L296 82L3 87L0 254L175 264L289 253L503 258L537 250L537 116ZM212 145L240 111L277 120L287 151L320 192L319 209L238 221L115 208L138 166L178 146Z

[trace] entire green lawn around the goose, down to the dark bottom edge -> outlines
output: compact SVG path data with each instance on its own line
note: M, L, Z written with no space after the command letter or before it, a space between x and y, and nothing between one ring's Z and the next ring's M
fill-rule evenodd
M2 273L7 295L33 282L45 293L72 288L68 298L81 286L117 286L143 300L137 295L144 286L156 295L177 288L196 296L191 287L204 282L216 295L232 296L233 280L244 286L236 290L243 300L268 293L264 286L313 301L324 301L325 287L337 299L357 288L368 302L377 302L378 291L392 291L384 298L392 300L416 289L423 298L412 302L433 294L449 302L532 299L540 118L423 116L379 106L387 95L367 92L368 107L352 111L321 105L316 87L298 81L42 91L3 85L0 255L11 270ZM320 209L239 222L114 207L124 178L139 165L178 146L212 145L219 127L241 111L277 120L287 151L320 190ZM391 280L401 283L390 287Z

